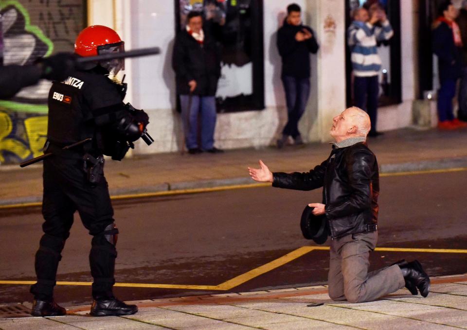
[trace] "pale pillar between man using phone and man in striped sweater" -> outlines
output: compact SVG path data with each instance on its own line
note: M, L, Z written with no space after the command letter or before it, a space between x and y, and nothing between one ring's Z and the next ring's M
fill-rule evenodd
M332 118L345 109L345 1L307 0L305 23L320 50L312 56L311 95L301 122L308 141L330 141Z

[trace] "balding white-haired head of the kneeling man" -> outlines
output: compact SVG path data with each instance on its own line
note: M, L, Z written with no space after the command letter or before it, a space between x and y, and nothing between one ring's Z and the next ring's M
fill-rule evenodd
M355 137L366 137L371 122L368 114L362 109L352 106L345 109L332 120L330 134L337 141Z

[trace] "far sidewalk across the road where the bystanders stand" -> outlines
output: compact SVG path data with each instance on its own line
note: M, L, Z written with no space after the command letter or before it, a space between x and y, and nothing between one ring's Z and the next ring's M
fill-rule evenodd
M369 139L381 173L467 167L467 130L417 131L402 129ZM258 159L272 171L308 171L329 154L326 143L241 149L225 154L180 153L135 156L122 162L108 160L106 177L112 195L194 189L253 183L247 166ZM40 202L42 167L0 166L0 205Z

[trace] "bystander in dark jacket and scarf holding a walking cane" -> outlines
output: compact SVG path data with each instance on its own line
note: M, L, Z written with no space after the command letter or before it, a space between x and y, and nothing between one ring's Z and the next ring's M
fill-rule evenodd
M203 30L201 13L192 11L186 20L186 27L175 39L172 57L185 144L190 154L217 154L222 152L214 146L220 49L208 31Z

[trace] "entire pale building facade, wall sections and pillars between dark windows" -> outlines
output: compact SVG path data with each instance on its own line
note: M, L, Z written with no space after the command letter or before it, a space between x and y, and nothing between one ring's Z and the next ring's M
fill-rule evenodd
M328 139L327 125L345 106L344 13L343 0L296 0L302 6L303 20L316 32L321 49L311 55L311 95L300 130L307 141ZM284 0L264 1L265 104L262 111L219 114L216 146L220 148L262 147L275 143L287 120L285 95L280 80L281 60L276 48L276 31L286 15ZM331 5L332 4L332 5ZM105 8L108 8L107 10ZM111 8L111 10L110 10ZM102 13L107 13L103 16ZM109 13L112 13L111 15ZM324 20L331 15L337 23L334 36L324 31ZM157 56L132 59L126 63L129 83L126 101L148 112L148 130L155 143L147 147L138 141L135 153L172 152L182 148L180 115L175 111L175 77L171 54L175 37L172 0L93 0L93 24L114 24L126 41L127 49L158 46ZM413 31L412 1L401 1L402 31ZM327 46L326 46L327 45ZM379 109L379 130L411 124L414 96L414 44L412 33L402 34L403 103ZM324 54L324 52L327 53ZM332 63L331 63L332 62ZM341 74L341 73L342 74Z

